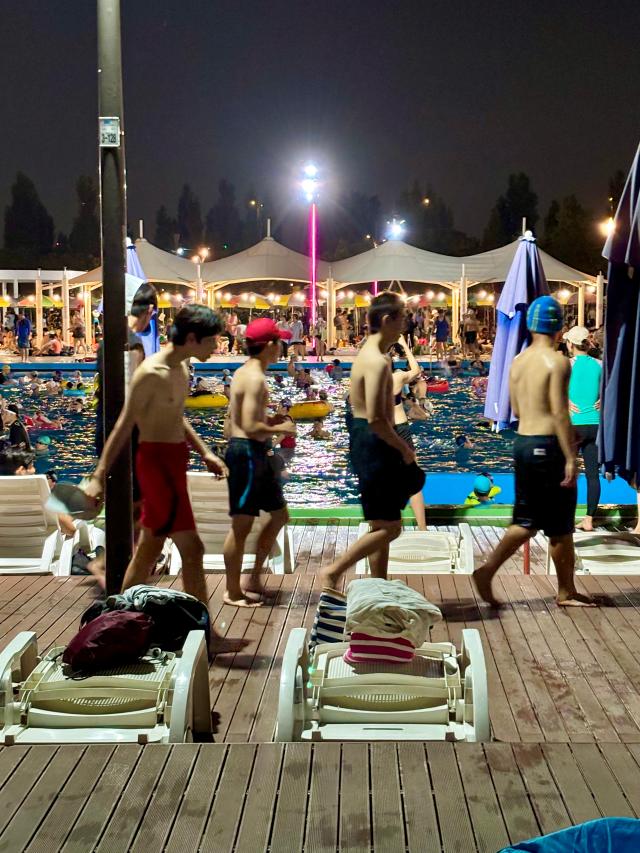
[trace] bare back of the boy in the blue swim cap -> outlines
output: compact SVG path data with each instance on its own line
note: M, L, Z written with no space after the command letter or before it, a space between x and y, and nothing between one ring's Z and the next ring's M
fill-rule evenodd
M568 359L549 347L531 346L511 366L511 407L519 419L520 435L554 435L556 414L569 408Z

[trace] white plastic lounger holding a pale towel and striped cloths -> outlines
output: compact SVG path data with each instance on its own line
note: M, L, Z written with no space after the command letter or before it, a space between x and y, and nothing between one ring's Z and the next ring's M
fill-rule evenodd
M480 635L425 643L411 663L348 664L346 643L308 652L305 628L282 659L276 740L466 740L491 737Z

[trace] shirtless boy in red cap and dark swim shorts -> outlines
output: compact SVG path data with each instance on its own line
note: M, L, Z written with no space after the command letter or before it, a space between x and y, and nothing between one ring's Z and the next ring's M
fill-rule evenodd
M273 320L262 318L249 323L245 332L248 361L236 370L231 382L229 421L231 437L225 462L229 469L229 515L231 530L224 543L227 574L226 604L256 607L264 589L260 573L276 537L289 519L282 484L269 453L275 435L294 435L295 424L267 416L269 392L265 374L277 362L281 341L291 332L279 329ZM275 422L277 421L277 423ZM256 547L256 559L246 589L240 586L240 572L247 536L260 512L271 516L263 527Z

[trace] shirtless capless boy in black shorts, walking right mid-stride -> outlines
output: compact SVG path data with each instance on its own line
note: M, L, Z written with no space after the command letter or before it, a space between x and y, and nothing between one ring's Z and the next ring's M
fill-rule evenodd
M360 500L370 531L324 572L326 587L336 589L347 569L369 558L371 574L386 578L389 545L402 531L401 512L424 485L415 452L394 427L393 377L387 353L405 325L405 307L397 293L381 293L369 309L370 335L351 368L349 458L358 476Z

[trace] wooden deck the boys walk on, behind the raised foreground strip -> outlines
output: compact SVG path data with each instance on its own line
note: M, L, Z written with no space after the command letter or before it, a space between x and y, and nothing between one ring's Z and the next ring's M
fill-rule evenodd
M316 574L355 537L356 527L294 528L297 570L268 577L273 607L236 609L222 602L223 576L209 574L216 629L246 637L242 653L210 668L217 741L263 743L273 738L280 665L291 628L310 626L320 593ZM497 541L497 528L474 528L476 562ZM478 602L468 576L415 575L414 588L443 610L434 640L460 642L462 628L480 631L489 679L493 737L511 743L640 743L640 576L588 577L579 586L598 597L595 610L561 611L554 581L541 573L542 548L532 547L533 574L521 557L497 579L507 603L499 614ZM176 584L179 578L165 578ZM35 630L41 650L65 644L95 595L84 578L0 577L0 647Z

